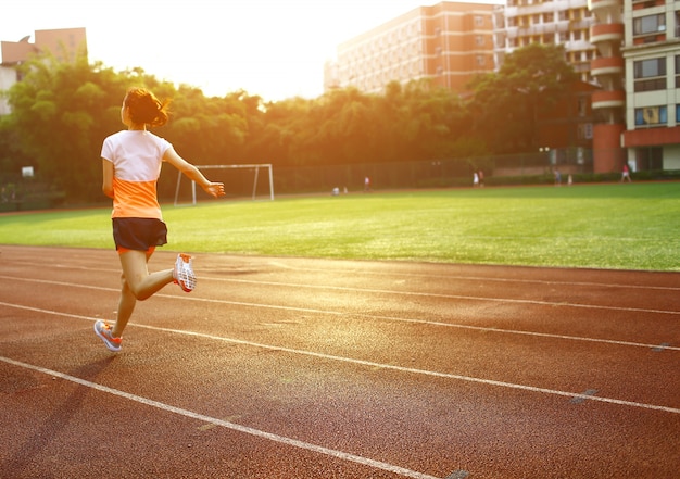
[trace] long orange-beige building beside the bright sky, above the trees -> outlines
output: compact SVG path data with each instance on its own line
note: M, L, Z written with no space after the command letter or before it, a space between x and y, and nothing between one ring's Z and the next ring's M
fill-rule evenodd
M493 5L440 2L416 8L338 47L325 89L356 87L380 93L391 81L423 78L463 91L493 72Z

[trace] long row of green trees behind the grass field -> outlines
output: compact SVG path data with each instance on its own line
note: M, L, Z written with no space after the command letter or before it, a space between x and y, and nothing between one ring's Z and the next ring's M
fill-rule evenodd
M556 48L517 50L499 74L476 83L467 104L427 79L392 83L383 94L347 88L265 104L245 91L206 98L139 67L114 72L84 55L64 63L43 54L20 67L22 81L7 92L12 114L0 118L0 181L32 165L38 179L64 191L70 203L105 200L101 144L123 127L121 103L134 85L173 100L171 122L154 131L199 165L272 163L277 168L454 159L462 165L457 171L466 171L468 162L483 167L468 159L529 148L530 112L554 101L570 78L563 56ZM176 173L164 171L162 178L168 175ZM160 194L171 196L174 185L161 181Z

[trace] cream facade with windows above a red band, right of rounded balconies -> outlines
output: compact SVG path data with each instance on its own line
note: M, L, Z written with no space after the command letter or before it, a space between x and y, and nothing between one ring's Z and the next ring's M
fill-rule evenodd
M621 146L633 171L680 169L680 1L622 3L626 130Z

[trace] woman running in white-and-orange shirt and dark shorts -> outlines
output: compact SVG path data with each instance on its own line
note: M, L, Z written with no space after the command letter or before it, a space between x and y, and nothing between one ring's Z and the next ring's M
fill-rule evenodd
M199 184L212 197L224 194L224 185L209 181L192 164L179 156L165 139L147 130L167 122L168 101L159 101L143 88L127 91L121 121L127 130L111 135L101 149L104 194L113 199L113 239L123 275L117 318L113 326L95 323L95 332L110 351L121 351L121 337L137 300L143 301L175 282L189 292L196 286L191 256L177 255L175 267L149 274L147 263L156 247L167 242L156 194L163 162L169 163Z

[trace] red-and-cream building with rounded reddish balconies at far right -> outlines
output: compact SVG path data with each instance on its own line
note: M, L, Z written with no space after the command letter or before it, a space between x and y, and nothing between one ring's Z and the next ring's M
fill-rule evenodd
M591 0L596 172L680 169L680 2Z

